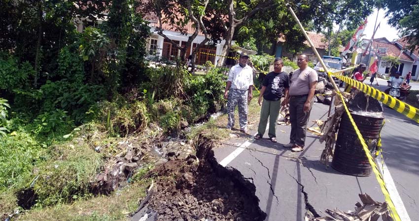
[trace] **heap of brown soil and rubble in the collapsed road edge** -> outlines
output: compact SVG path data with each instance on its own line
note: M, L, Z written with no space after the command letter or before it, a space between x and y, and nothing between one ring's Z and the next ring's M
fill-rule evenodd
M156 179L133 221L263 221L255 186L236 169L220 166L213 143L200 137L196 158L156 167ZM166 177L166 178L163 178Z

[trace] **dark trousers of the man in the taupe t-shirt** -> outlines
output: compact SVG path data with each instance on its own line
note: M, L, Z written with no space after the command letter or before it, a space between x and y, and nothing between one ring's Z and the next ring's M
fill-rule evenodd
M310 112L312 111L313 102L310 111L304 112L304 103L306 103L306 96L290 96L289 99L289 121L291 122L291 135L289 136L290 143L298 144L304 147L306 142L307 123L309 122Z

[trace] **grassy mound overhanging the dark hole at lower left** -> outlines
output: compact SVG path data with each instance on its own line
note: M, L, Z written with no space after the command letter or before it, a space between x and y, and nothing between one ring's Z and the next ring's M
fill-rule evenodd
M37 206L70 202L88 193L89 182L103 165L102 154L87 144L59 145L55 156L35 166L30 177L38 195Z

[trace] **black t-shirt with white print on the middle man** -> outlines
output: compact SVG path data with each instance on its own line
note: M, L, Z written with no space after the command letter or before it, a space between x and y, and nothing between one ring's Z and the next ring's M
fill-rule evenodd
M278 101L282 97L284 88L289 88L289 75L283 71L281 73L270 72L266 75L262 85L266 86L263 98L268 101Z

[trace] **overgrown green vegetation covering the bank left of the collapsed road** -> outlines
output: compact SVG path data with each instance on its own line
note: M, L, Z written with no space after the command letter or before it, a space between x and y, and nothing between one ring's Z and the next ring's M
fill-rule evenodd
M225 105L225 69L192 75L180 60L149 67L149 27L135 2L109 6L108 22L83 33L72 26L72 3L40 3L55 10L30 14L40 23L28 24L13 19L35 12L31 5L2 3L22 38L10 35L0 52L0 220L126 219L154 159L143 154L125 184L103 194L96 175L125 151L118 143L184 137L182 128ZM49 32L28 39L38 28Z

